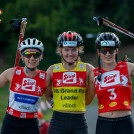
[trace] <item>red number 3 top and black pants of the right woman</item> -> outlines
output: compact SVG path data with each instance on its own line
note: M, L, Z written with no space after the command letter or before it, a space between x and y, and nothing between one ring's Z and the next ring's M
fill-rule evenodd
M98 98L98 113L130 110L132 83L129 79L126 62L118 62L110 71L101 68L101 81L98 81L99 68L94 69L94 85ZM134 134L131 115L119 118L98 116L96 134Z

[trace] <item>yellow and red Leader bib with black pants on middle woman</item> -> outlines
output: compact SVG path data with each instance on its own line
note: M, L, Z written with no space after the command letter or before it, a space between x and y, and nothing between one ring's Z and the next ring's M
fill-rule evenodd
M71 71L65 70L62 63L53 65L54 112L48 134L88 134L84 114L86 78L83 62Z

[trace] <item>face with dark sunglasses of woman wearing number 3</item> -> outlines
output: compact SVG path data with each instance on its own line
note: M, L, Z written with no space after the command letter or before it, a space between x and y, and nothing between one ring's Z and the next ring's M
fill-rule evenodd
M118 49L115 48L100 48L98 54L100 55L103 64L111 64L115 62L115 56L118 53Z

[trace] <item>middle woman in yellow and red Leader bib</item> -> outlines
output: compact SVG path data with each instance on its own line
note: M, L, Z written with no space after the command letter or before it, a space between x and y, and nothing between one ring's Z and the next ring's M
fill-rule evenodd
M94 67L80 62L82 43L82 37L76 32L63 32L58 37L57 52L62 63L47 70L52 78L54 102L48 134L88 134L84 114L86 80Z

